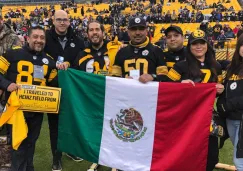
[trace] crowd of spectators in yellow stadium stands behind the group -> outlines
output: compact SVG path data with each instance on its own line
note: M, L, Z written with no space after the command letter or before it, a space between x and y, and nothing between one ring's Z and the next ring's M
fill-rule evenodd
M110 27L106 30L105 38L108 40L113 40L116 36L120 41L128 42L129 36L127 33L127 24L129 18L133 16L143 17L148 24L149 37L153 38L156 26L155 24L159 23L201 23L200 29L205 31L210 39L212 45L217 42L215 47L224 48L225 42L229 39L234 39L237 35L239 29L242 28L242 25L236 25L235 28L230 28L228 24L224 24L223 26L219 23L222 21L243 21L243 10L236 12L234 7L226 8L222 5L219 0L218 3L213 3L212 5L207 5L205 1L200 0L197 4L194 3L194 0L179 0L180 3L186 3L193 7L193 10L190 11L187 6L184 8L181 6L179 10L173 10L163 12L163 4L164 1L161 0L160 3L156 3L153 0L150 0L150 6L145 7L143 1L120 1L117 0L116 3L110 3L109 9L102 9L98 11L94 7L94 4L102 3L102 1L93 1L90 8L84 10L82 6L80 8L80 16L82 17L73 17L70 15L71 27L74 28L75 33L82 37L85 41L87 40L86 29L87 23L91 20L98 20L100 23L105 25L110 25ZM229 0L226 3L230 2ZM168 3L174 3L174 0L169 0ZM205 21L204 14L199 8L212 8L211 16L209 20ZM123 14L122 10L126 8L131 8L132 11L136 11L133 15ZM71 2L61 3L60 9L66 10L67 13L70 10L73 10L74 13L77 13L78 6L77 4L73 4ZM145 10L149 9L150 13L145 14ZM49 7L36 7L33 11L30 12L29 17L24 17L26 10L25 9L17 9L16 11L10 10L10 12L6 13L4 16L7 20L7 23L12 25L13 29L17 34L26 37L28 28L32 25L41 25L50 29L52 26L52 16L55 13L55 8L53 5ZM93 15L94 14L94 15ZM12 22L11 18L21 18L19 21ZM215 26L210 26L209 22L217 21ZM161 29L162 37L158 42L158 45L161 46L162 49L166 47L165 37L163 36L163 32L166 28ZM185 38L189 37L190 31L185 33ZM87 42L86 42L87 43Z

